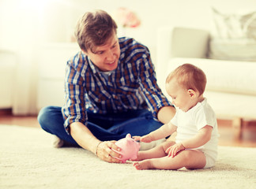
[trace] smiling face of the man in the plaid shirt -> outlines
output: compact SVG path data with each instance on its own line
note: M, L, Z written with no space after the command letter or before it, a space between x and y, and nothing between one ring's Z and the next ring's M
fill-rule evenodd
M83 52L88 55L100 71L108 72L115 70L120 57L119 39L115 32L113 32L113 35L107 40L105 45L96 46L93 52L92 50L88 50L87 53L85 51Z

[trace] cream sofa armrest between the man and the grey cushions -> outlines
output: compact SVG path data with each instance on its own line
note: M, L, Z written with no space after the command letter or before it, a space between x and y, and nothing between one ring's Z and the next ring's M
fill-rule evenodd
M171 57L206 57L209 31L182 28L159 28L156 36L156 76L163 86L163 73Z

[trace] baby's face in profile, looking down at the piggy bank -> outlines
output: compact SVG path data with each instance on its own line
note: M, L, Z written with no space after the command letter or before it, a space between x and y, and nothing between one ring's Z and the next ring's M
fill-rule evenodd
M186 112L191 107L191 98L187 89L179 86L177 80L172 79L165 85L168 95L171 97L171 103L179 109Z

